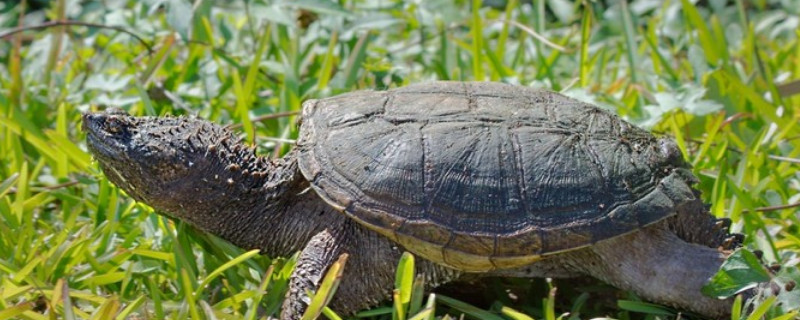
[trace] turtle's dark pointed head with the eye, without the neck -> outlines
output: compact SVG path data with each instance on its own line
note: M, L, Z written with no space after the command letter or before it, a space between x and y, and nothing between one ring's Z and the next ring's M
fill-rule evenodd
M211 145L235 140L225 128L186 117L134 117L121 109L83 115L89 151L109 180L135 199L177 214L199 181L221 166ZM210 155L211 154L211 155Z

